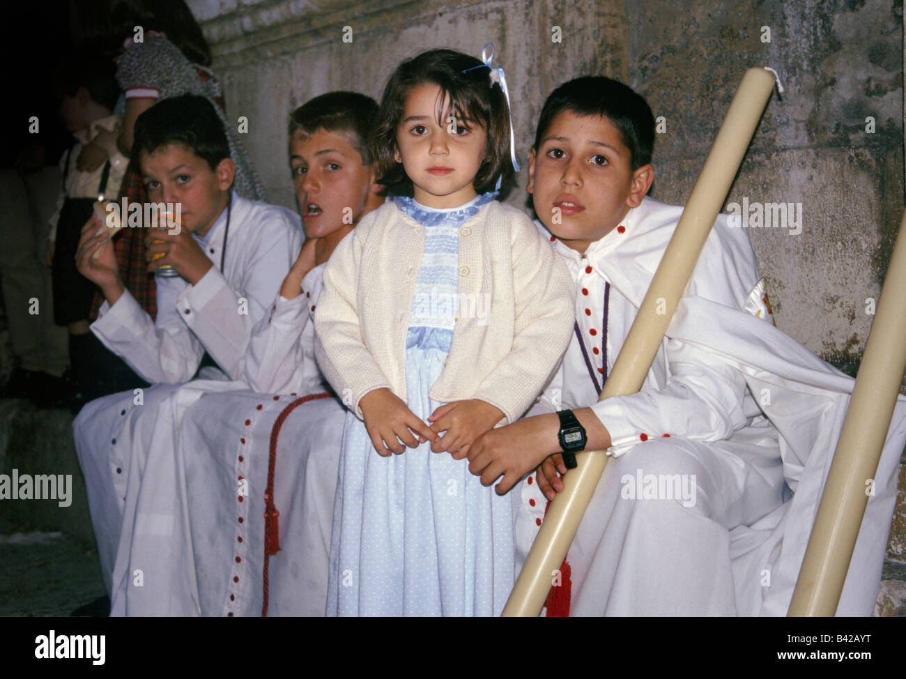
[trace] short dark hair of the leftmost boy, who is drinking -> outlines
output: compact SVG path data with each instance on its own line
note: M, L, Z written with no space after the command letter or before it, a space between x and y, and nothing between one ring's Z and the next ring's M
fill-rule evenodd
M178 144L207 160L217 170L230 157L224 124L214 104L198 94L183 94L157 102L135 121L132 158L153 153L169 144Z

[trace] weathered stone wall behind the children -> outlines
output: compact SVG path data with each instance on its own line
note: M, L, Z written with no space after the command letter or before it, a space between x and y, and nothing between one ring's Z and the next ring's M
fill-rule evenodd
M802 204L798 235L750 233L777 324L843 369L857 365L872 320L866 299L877 298L903 209L901 2L189 5L212 44L230 114L250 121L246 143L270 198L286 206L294 204L288 112L332 89L379 98L396 63L431 47L477 55L495 44L521 161L556 84L589 73L628 82L663 117L653 195L668 202L689 196L742 74L775 68L786 94L768 104L728 202ZM525 205L525 179L509 202Z

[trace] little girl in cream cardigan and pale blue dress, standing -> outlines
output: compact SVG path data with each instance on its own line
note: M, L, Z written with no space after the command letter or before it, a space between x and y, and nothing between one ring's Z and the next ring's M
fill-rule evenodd
M450 50L400 64L374 150L381 183L408 178L414 199L371 212L324 268L315 350L350 408L329 615L491 616L513 585L509 500L462 458L550 378L573 285L531 221L495 200L510 127L492 74Z

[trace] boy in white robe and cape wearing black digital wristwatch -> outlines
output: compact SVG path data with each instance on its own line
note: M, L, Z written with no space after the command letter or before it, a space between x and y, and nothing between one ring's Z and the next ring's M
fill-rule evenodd
M470 470L515 486L521 566L563 490L561 453L612 455L548 615L785 615L853 380L776 330L747 234L721 216L641 391L598 402L682 212L646 197L653 141L622 83L579 78L545 102L528 191L575 281L573 342L535 416L484 434ZM902 405L838 615L872 612Z

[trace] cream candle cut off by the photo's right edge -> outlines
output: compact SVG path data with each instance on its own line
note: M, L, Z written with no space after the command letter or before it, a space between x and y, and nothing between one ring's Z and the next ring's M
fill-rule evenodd
M906 212L865 344L789 616L833 616L906 371ZM873 481L872 481L873 483Z

